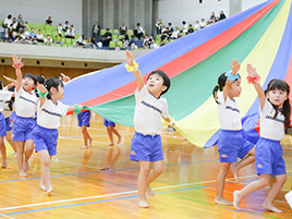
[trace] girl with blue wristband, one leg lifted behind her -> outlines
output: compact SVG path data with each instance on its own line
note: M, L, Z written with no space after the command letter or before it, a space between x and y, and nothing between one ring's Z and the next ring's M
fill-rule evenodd
M220 170L217 177L217 194L215 203L221 205L232 205L223 197L226 177L231 163L242 160L233 168L233 174L238 181L239 169L255 161L254 145L243 138L241 114L234 97L241 95L241 78L236 73L241 64L238 60L230 65L232 71L223 73L218 78L218 85L214 88L212 95L217 102L221 133L218 139L218 151L220 156ZM220 89L219 96L217 95Z

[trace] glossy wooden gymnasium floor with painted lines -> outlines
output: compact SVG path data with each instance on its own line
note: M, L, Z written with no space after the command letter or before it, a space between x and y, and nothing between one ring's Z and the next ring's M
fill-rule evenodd
M108 136L102 118L93 113L89 133L92 149L82 150L81 131L74 115L62 120L59 129L58 155L51 165L52 196L39 190L40 161L31 158L27 179L17 175L16 161L9 149L8 169L0 170L0 217L17 219L96 219L96 218L292 218L284 194L292 184L292 146L283 142L288 182L277 196L275 206L283 214L261 208L268 188L248 195L244 210L215 205L216 177L219 161L217 147L200 149L183 139L177 132L162 132L165 172L151 185L157 195L148 197L150 208L137 206L138 163L129 160L132 127L118 125L123 142L118 147L107 146ZM257 179L255 167L240 172L241 183L228 175L224 195L232 200L232 192Z

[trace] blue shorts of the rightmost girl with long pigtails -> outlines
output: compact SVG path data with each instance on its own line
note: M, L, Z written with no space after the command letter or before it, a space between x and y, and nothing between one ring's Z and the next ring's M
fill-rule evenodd
M283 149L280 141L259 137L256 143L256 173L280 175L285 173Z

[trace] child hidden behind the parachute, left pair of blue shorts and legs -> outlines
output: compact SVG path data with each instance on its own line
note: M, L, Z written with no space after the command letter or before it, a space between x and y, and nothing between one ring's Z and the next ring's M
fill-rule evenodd
M92 112L89 110L81 112L77 114L78 126L81 127L84 145L81 149L88 149L92 146L93 138L90 137L87 127L90 125Z

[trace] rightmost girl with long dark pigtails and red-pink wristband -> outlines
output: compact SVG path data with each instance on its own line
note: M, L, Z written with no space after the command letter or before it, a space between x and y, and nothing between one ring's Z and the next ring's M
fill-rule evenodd
M276 177L263 207L273 212L282 212L272 205L272 200L281 191L287 180L285 163L282 158L280 141L284 137L284 127L290 125L291 107L289 102L289 85L281 80L271 80L268 88L263 90L258 84L256 70L247 64L248 82L254 84L259 100L260 135L256 143L256 171L259 180L233 193L233 206L240 210L241 199L261 187L269 185L270 177Z

